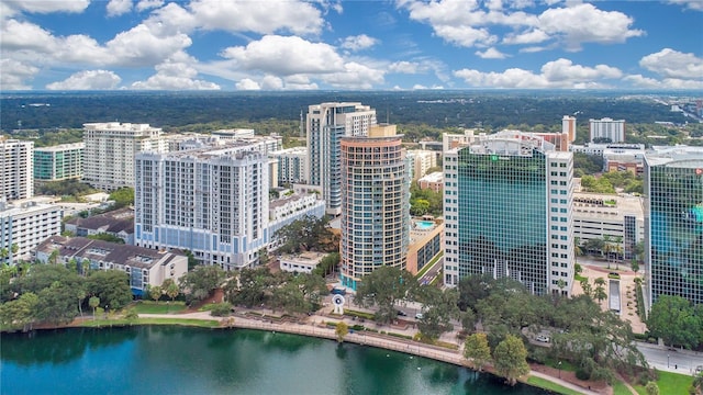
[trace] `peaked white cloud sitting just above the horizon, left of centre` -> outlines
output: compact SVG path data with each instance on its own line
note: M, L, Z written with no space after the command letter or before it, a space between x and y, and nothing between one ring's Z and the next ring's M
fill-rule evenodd
M190 64L194 59L185 54L177 54L155 67L156 74L146 81L132 83L133 89L146 90L219 90L220 86L213 82L196 79L198 70Z

